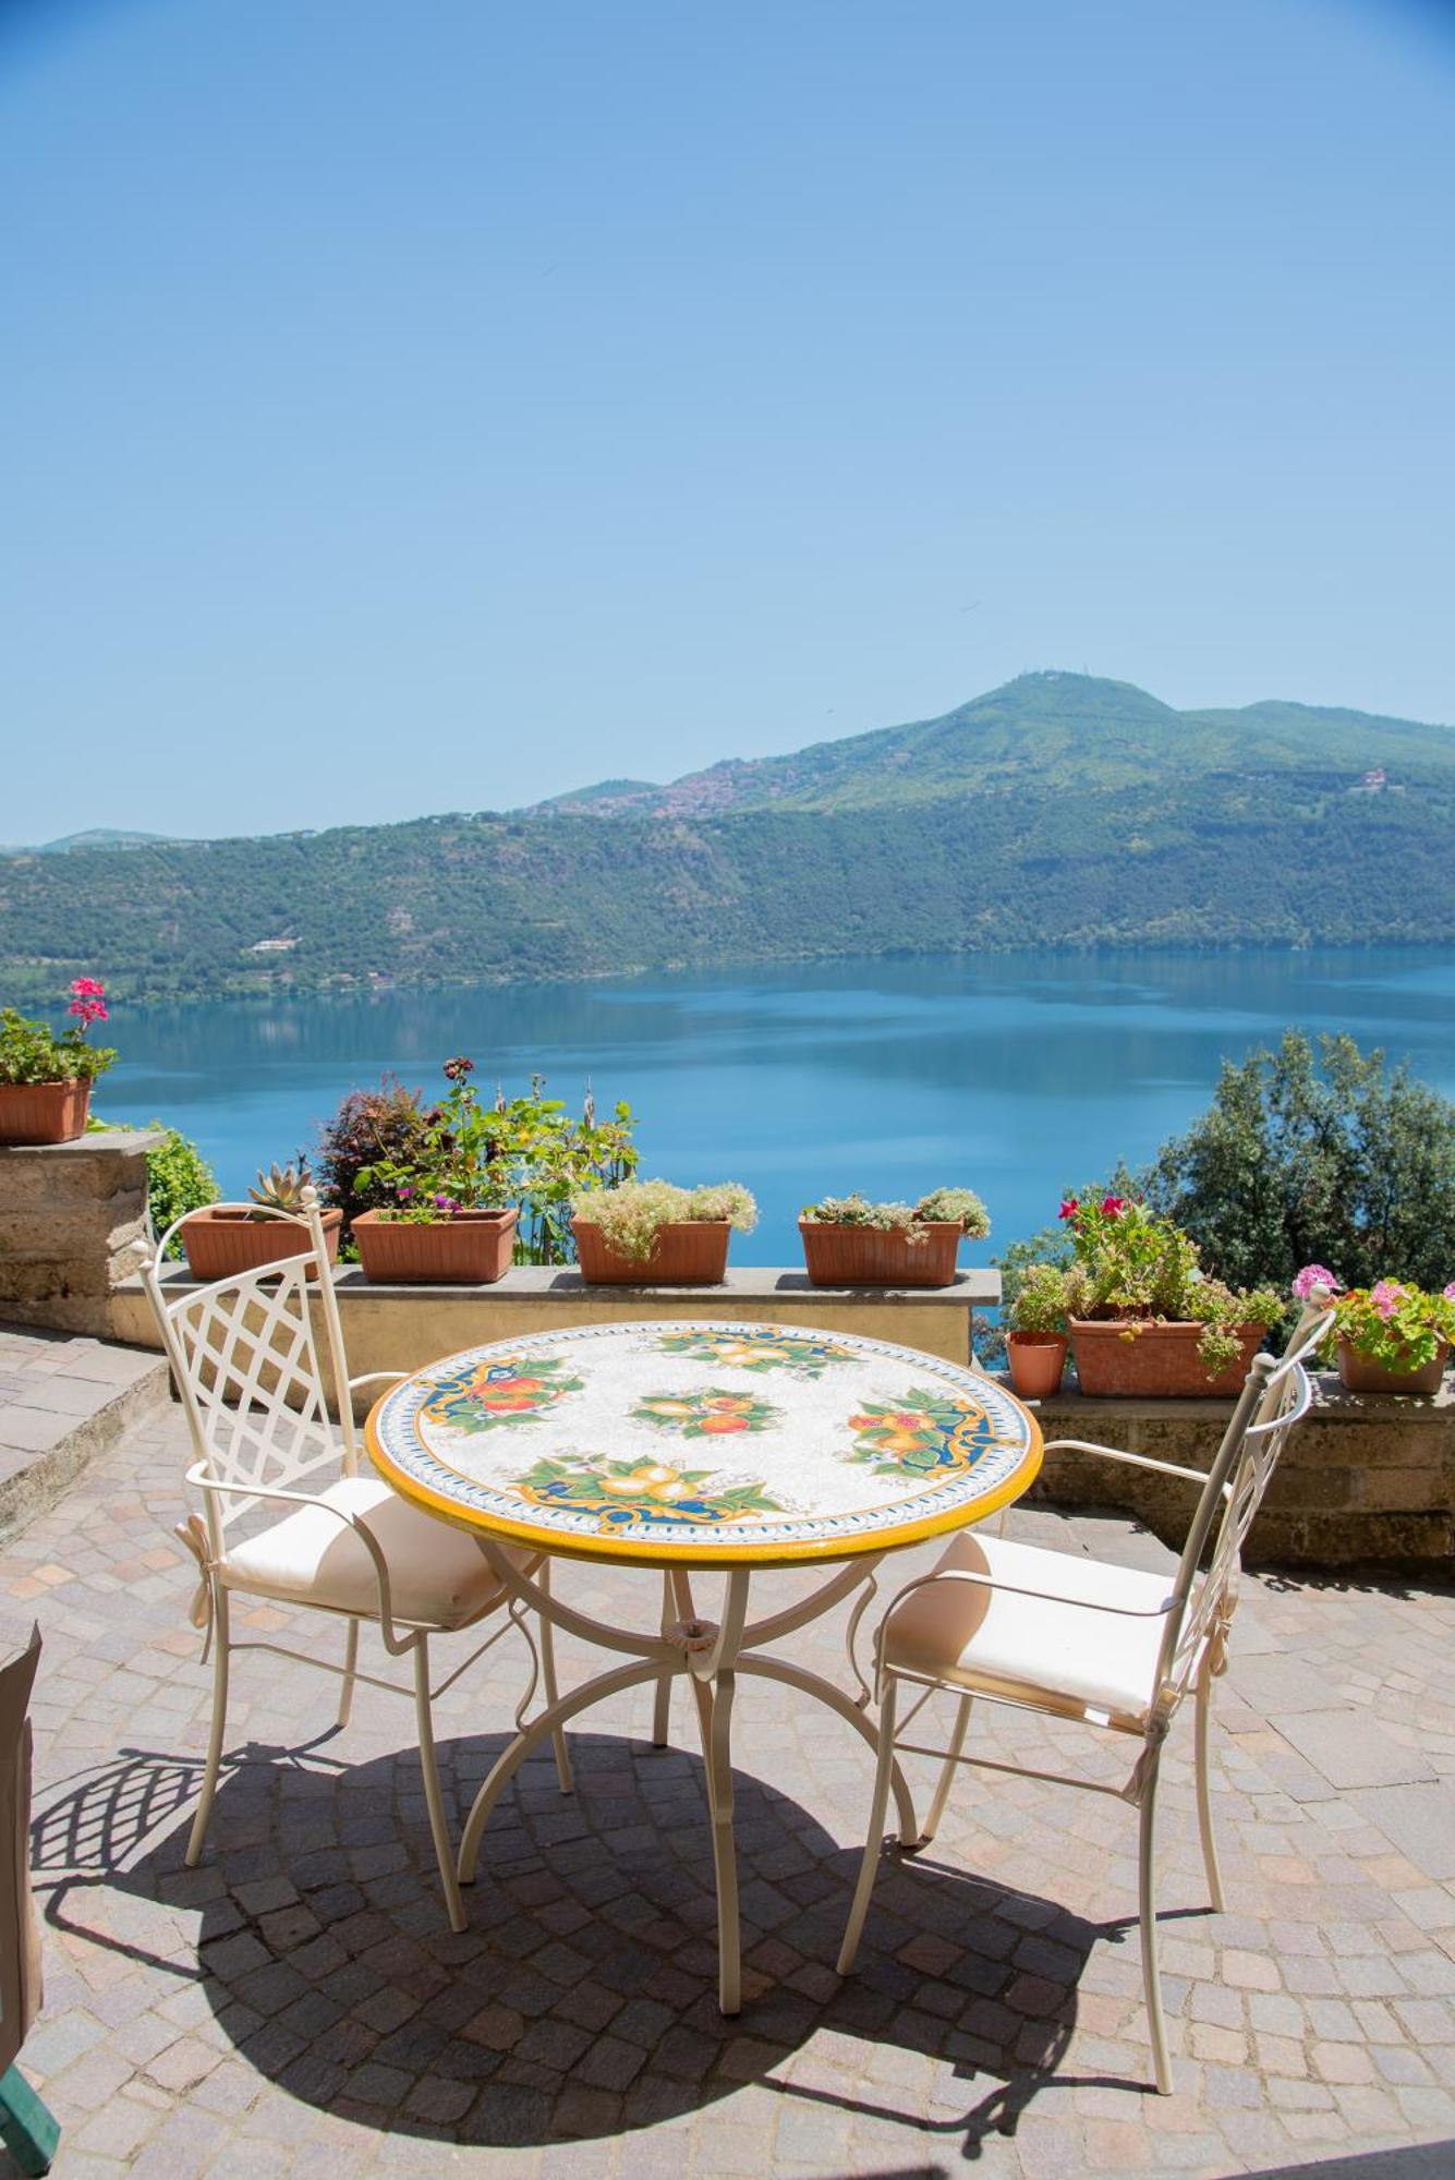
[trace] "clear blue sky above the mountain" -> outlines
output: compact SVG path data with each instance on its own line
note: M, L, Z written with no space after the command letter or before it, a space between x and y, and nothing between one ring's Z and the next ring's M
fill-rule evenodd
M0 839L1455 719L1455 11L0 0Z

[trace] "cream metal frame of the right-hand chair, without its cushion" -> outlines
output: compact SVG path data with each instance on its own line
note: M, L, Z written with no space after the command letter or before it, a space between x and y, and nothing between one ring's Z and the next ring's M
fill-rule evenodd
M1218 1842L1213 1838L1213 1809L1209 1794L1211 1683L1215 1676L1226 1672L1226 1639L1233 1609L1237 1604L1242 1543L1252 1526L1252 1517L1261 1504L1263 1491L1268 1489L1268 1480L1276 1467L1289 1430L1309 1410L1311 1386L1305 1365L1329 1336L1329 1297L1316 1288L1283 1356L1255 1356L1252 1369L1248 1371L1244 1389L1237 1397L1237 1406L1233 1408L1228 1426L1222 1434L1218 1456L1207 1474L1202 1469L1178 1467L1170 1461L1152 1461L1146 1454L1128 1454L1113 1445L1096 1445L1085 1439L1056 1439L1046 1448L1046 1452L1078 1452L1093 1454L1104 1461L1122 1461L1139 1469L1157 1469L1161 1476L1183 1476L1202 1487L1172 1589L1152 1613L1133 1607L1102 1604L1087 1598L1067 1598L1059 1591L1028 1589L967 1567L943 1567L934 1574L921 1574L917 1581L906 1583L897 1596L889 1600L873 1644L876 1696L880 1707L880 1764L873 1783L865 1855L858 1868L858 1884L854 1888L854 1903L849 1908L843 1945L839 1949L841 1975L847 1975L854 1966L865 1916L869 1912L869 1897L873 1892L876 1866L884 1842L884 1820L889 1814L889 1766L897 1753L926 1755L941 1761L941 1775L930 1801L924 1833L917 1840L897 1842L900 1849L908 1853L928 1846L934 1838L950 1796L950 1783L961 1766L1011 1775L1019 1772L1026 1779L1046 1779L1054 1785L1078 1785L1093 1794L1113 1794L1117 1801L1128 1801L1139 1816L1137 1892L1141 1923L1141 1975L1152 2058L1157 2067L1157 2088L1163 2093L1172 2088L1172 2060L1167 2051L1167 2025L1163 2017L1161 1975L1157 1964L1154 1905L1154 1818L1161 1748L1183 1696L1194 1690L1198 1833L1202 1840L1202 1864L1207 1870L1211 1905L1213 1910L1222 1910L1222 1870L1218 1866ZM1209 1537L1213 1537L1213 1550L1207 1572L1200 1572ZM1104 1711L1096 1711L1091 1705L1083 1705L1080 1711L1076 1711L1065 1703L1056 1703L1050 1694L1043 1703L980 1690L967 1694L956 1683L937 1679L928 1672L889 1666L884 1659L884 1642L895 1609L915 1591L924 1591L934 1583L945 1581L980 1583L987 1589L1008 1589L1017 1596L1030 1598L1041 1596L1048 1602L1074 1604L1089 1613L1161 1618L1163 1635L1157 1659L1154 1696L1146 1720L1139 1727L1128 1727L1109 1718ZM924 1687L924 1694L906 1711L902 1722L897 1722L900 1683ZM941 1692L958 1696L947 1746L928 1748L917 1742L902 1740L902 1733L919 1716L926 1703ZM1069 1777L1065 1772L1032 1770L1024 1764L1000 1764L991 1757L967 1757L965 1733L969 1727L969 1709L976 1700L1002 1703L1008 1709L1035 1711L1037 1716L1080 1718L1080 1722L1104 1731L1137 1733L1141 1740L1141 1753L1128 1781L1120 1788Z

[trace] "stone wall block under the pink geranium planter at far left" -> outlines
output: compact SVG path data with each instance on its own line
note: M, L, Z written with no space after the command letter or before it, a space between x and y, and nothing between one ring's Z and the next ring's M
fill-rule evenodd
M113 1310L146 1240L157 1129L0 1144L0 1323L124 1339Z

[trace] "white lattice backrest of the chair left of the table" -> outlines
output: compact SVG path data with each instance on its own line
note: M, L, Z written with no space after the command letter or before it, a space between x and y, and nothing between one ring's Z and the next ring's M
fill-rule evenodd
M259 1212L259 1206L222 1210ZM322 1469L353 1476L359 1458L318 1195L305 1190L303 1219L268 1216L298 1227L294 1256L207 1286L168 1286L161 1269L179 1219L142 1267L194 1454L209 1476L237 1491L296 1489ZM311 1301L325 1328L322 1349ZM205 1500L213 1550L222 1550L222 1530L257 1502L231 1491L207 1491Z

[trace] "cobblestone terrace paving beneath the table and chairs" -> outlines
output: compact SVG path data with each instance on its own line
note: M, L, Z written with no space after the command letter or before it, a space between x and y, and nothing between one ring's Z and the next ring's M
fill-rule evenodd
M451 1936L412 1707L268 1657L235 1668L207 1857L183 1868L209 1676L168 1541L183 1430L115 1448L0 1557L46 1635L37 1888L48 2003L24 2064L63 2180L142 2173L993 2176L1455 2169L1455 1596L1248 1581L1220 1690L1233 1912L1205 1912L1189 1720L1163 1790L1176 2093L1148 2088L1135 1818L1093 1794L963 1777L926 1857L887 1862L860 1971L832 1973L869 1768L784 1687L736 1713L747 1999L714 2003L701 1768L686 1703L588 1713L577 1794L527 1766ZM1117 1519L1013 1517L1065 1550L1161 1546ZM908 1576L926 1554L904 1554ZM562 1567L651 1624L649 1578ZM786 1596L797 1578L778 1578ZM259 1604L237 1633L290 1615ZM843 1618L795 1650L843 1674ZM338 1635L318 1620L320 1644ZM444 1650L440 1655L447 1655ZM564 1681L599 1670L573 1644ZM523 1690L512 1633L440 1705L455 1822ZM1085 1729L991 1711L982 1746L1111 1777ZM1398 2165L1353 2152L1405 2145ZM1429 2147L1414 2147L1429 2145ZM1444 2145L1444 2147L1440 2147ZM0 2169L4 2160L0 2156Z

